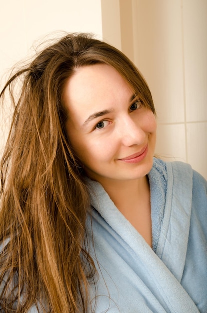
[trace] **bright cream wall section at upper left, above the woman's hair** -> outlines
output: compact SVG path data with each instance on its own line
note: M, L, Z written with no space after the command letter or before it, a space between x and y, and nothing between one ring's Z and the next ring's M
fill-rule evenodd
M101 0L6 0L1 3L0 76L52 31L85 31L102 38Z

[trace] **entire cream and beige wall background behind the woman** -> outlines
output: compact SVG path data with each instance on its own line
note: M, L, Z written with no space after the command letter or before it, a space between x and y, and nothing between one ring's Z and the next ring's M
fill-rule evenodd
M156 152L207 178L207 0L3 1L0 87L34 40L56 30L93 32L122 49L152 90ZM10 110L0 113L2 146Z

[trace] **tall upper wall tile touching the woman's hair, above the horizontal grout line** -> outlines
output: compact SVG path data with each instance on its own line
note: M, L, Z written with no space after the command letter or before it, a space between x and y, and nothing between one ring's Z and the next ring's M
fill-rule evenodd
M135 62L149 83L160 121L184 122L181 1L133 2Z

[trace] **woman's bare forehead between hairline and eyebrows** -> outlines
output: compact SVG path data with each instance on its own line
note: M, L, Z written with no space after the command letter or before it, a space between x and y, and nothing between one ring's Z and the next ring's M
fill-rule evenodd
M99 99L107 103L121 93L131 92L132 88L115 68L98 63L76 69L65 84L63 102L70 109L87 100L96 102Z

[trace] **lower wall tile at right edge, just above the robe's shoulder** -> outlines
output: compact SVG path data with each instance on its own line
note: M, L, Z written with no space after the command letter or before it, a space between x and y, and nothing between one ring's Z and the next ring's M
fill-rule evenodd
M207 179L207 121L187 124L188 162Z

